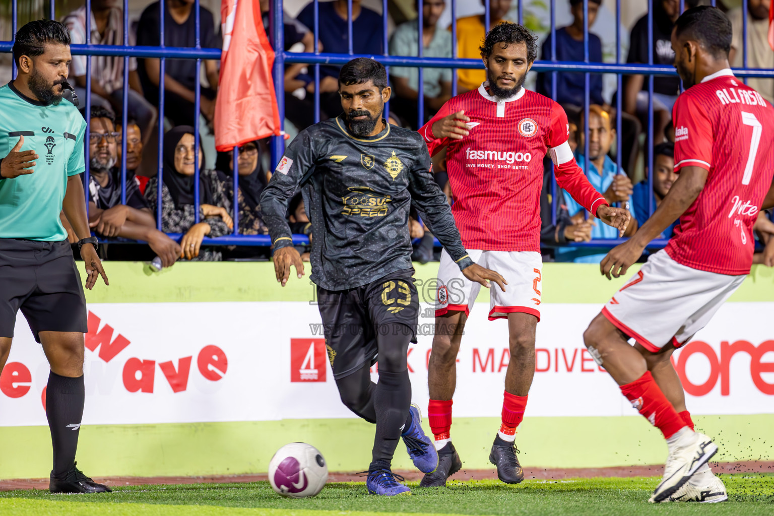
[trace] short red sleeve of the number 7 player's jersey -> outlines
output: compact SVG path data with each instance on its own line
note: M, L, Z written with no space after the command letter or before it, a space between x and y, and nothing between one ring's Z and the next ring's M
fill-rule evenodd
M712 123L699 100L690 94L677 97L672 108L675 125L675 172L683 166L712 166Z

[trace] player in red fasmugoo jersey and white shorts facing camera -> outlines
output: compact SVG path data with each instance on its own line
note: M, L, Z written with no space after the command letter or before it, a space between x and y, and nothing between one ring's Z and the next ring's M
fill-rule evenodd
M550 98L522 87L536 57L536 37L515 23L488 32L481 58L488 81L478 90L451 98L420 129L430 154L447 148L452 214L468 254L496 268L508 282L491 292L489 320L509 325L511 359L505 375L502 425L489 460L500 480L523 479L515 453L515 430L522 421L535 372L535 330L540 319L540 190L543 157L550 151L559 186L607 224L624 231L630 216L611 208L588 183L567 143L567 115ZM467 281L446 253L441 255L436 302L436 335L428 383L430 429L439 450L437 470L422 486L442 486L461 467L450 442L455 361L467 315L478 286Z

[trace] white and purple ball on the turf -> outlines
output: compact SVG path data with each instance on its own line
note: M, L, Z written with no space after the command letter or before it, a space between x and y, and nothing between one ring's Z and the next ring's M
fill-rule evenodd
M290 443L269 462L269 483L283 497L313 497L325 487L328 466L320 450L307 443Z

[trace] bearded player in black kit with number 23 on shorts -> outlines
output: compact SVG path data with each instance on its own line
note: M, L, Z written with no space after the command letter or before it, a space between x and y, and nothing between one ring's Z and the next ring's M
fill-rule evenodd
M311 279L330 366L344 405L376 423L368 491L391 496L411 493L390 470L398 439L424 473L438 463L420 426L419 408L411 403L406 364L420 306L410 258L410 204L423 212L467 279L487 287L491 279L503 291L505 280L467 255L446 196L430 174L422 137L382 118L390 93L382 64L357 58L344 65L339 75L344 113L296 136L263 191L261 207L277 281L284 286L291 265L303 275L285 218L288 201L301 186L314 234ZM374 384L369 368L377 359Z

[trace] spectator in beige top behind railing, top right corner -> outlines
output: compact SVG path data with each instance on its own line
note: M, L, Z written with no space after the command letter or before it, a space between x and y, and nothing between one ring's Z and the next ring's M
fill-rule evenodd
M731 39L731 53L728 62L735 68L774 68L774 52L769 46L769 2L771 0L747 0L747 65L745 66L744 45L741 43L744 32L742 8L731 9L728 19L734 36ZM774 103L774 79L749 77L752 87L769 103Z

